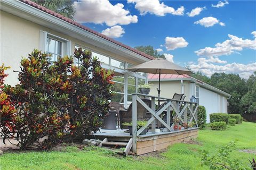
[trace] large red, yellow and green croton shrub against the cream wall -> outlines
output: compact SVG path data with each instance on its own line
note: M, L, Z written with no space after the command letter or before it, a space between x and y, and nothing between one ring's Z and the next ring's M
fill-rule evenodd
M34 50L21 61L19 84L3 88L14 118L9 121L12 126L6 126L9 131L0 133L4 139L17 140L21 149L49 149L63 138L84 137L99 129L108 111L113 73L102 69L91 52L75 49L78 66L73 57L52 63L50 57Z

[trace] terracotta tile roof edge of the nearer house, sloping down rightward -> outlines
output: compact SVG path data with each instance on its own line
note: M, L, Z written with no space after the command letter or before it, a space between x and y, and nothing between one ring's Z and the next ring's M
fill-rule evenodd
M41 6L41 5L38 5L38 4L36 4L35 2L31 2L31 1L29 1L29 0L20 0L20 1L23 2L23 3L26 3L26 4L28 4L28 5L30 5L30 6L32 6L32 7L35 7L35 8L37 8L38 10L41 10L41 11L46 12L46 13L48 13L48 14L51 14L51 15L53 15L53 16L55 16L55 17L57 17L57 18L59 18L59 19L61 19L61 20L63 20L63 21L66 21L66 22L68 22L68 23L70 23L70 24L73 24L73 25L75 25L76 27L82 28L82 29L84 29L85 31L91 32L91 33L93 33L93 34L96 35L96 36L99 36L99 37L101 37L101 38L103 38L103 39L106 39L106 40L110 41L111 43L114 43L114 44L116 44L116 45L118 45L118 46L121 46L121 47L123 47L123 48L129 49L130 51L132 51L132 52L134 52L134 53L137 53L137 54L139 54L139 55L141 55L141 56L143 56L143 57L146 57L146 58L148 58L148 59L150 59L150 60L154 60L154 57L153 57L153 56L150 56L150 55L148 55L148 54L145 54L145 53L143 53L143 52L140 52L139 50L134 49L134 48L132 48L132 47L130 47L130 46L124 45L124 44L120 43L119 41L116 41L116 40L114 40L114 39L112 39L112 38L109 38L109 37L103 35L102 33L99 33L99 32L94 31L94 30L92 30L92 29L90 29L90 28L88 28L88 27L85 27L84 25L82 25L82 24L80 24L80 23L78 23L78 22L75 22L74 20L71 20L71 19L69 19L69 18L66 18L65 16L63 16L63 15L61 15L61 14L58 14L58 13L56 13L56 12L54 12L54 11L51 11L51 10L49 10L49 9L47 9L47 8L45 8L45 7L43 7L43 6Z

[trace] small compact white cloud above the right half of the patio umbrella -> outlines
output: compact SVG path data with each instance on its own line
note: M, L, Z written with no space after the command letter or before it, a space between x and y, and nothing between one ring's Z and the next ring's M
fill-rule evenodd
M167 50L173 50L176 48L187 47L188 42L183 37L166 37L165 48Z

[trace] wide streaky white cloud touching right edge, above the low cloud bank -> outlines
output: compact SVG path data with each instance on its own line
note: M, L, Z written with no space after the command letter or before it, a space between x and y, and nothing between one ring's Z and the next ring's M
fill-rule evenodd
M242 39L233 35L228 35L230 39L217 43L214 48L205 47L195 51L198 56L221 56L230 55L242 51L244 48L256 49L256 31L252 32L254 40Z

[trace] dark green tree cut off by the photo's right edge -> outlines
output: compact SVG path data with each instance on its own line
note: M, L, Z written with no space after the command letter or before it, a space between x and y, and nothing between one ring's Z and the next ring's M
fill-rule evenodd
M256 113L256 71L247 80L248 92L241 99L243 113Z

